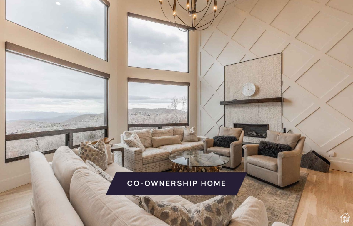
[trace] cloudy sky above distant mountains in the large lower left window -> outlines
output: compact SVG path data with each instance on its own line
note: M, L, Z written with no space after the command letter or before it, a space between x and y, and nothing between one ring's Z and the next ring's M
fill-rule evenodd
M6 52L6 111L104 112L104 79Z

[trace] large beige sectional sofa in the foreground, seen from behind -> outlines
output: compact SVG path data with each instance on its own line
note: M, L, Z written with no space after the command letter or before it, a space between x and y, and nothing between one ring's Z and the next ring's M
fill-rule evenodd
M30 153L29 159L37 226L168 226L140 208L131 196L107 196L110 183L90 171L68 147L56 150L51 166L41 152ZM105 171L111 176L131 172L117 163ZM185 207L193 204L178 195L151 197ZM229 223L238 225L267 226L263 202L254 197L245 200Z

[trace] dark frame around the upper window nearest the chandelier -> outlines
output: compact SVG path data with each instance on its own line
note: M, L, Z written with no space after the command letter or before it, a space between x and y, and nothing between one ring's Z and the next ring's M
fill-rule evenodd
M174 72L190 73L190 48L189 48L190 34L189 34L189 27L188 26L182 25L182 24L177 24L178 26L176 26L175 24L170 23L169 21L166 21L166 20L160 20L160 19L146 17L143 15L128 12L127 18L129 18L129 17L141 19L141 20L146 20L146 21L150 21L153 23L164 24L164 25L168 25L168 26L172 26L172 27L179 27L179 28L187 29L188 30L187 31L187 62L186 62L187 63L187 71L174 71ZM128 39L129 39L129 24L128 24L128 19L127 19L127 40ZM144 67L129 66L129 46L127 46L127 67L144 68ZM144 68L144 69L160 70L160 71L173 71L173 70L163 70L163 69L155 69L155 68Z

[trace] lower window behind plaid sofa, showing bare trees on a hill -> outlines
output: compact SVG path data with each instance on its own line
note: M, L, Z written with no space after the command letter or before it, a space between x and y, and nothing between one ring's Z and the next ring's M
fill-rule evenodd
M189 85L129 78L129 130L189 125Z

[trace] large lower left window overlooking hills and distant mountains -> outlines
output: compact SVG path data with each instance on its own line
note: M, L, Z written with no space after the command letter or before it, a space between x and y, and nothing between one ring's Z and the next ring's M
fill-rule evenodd
M107 135L107 79L35 58L6 52L7 162Z

